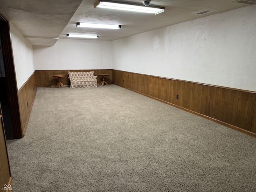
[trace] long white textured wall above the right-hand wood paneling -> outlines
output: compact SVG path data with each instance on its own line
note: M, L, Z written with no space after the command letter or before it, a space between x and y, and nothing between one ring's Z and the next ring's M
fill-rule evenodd
M113 69L256 91L256 5L115 40Z

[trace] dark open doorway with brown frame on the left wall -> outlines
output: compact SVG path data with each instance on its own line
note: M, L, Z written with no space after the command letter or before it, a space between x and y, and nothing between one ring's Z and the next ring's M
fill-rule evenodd
M12 44L10 39L9 21L0 13L0 39L1 53L4 66L4 78L1 82L2 118L6 139L19 139L23 137L20 121L20 109L18 102L18 88L14 60L12 55ZM2 67L1 67L2 68ZM3 74L3 71L2 71ZM6 101L7 98L7 101Z

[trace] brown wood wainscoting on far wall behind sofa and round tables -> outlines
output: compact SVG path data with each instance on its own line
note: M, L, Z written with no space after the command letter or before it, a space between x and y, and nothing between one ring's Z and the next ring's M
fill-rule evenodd
M65 74L66 77L61 78L61 82L64 85L70 85L70 81L68 79L68 72L86 72L86 71L94 71L94 75L98 76L98 74L109 74L109 76L105 77L106 82L112 83L112 69L101 69L101 70L36 70L36 86L37 87L50 87L56 86L58 83L58 78L53 77L52 75L56 74ZM101 77L97 77L98 83L102 81Z

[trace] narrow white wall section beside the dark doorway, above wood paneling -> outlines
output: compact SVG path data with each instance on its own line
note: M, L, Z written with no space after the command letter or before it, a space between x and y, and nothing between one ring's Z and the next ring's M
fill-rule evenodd
M34 73L33 48L22 33L10 22L12 52L18 90Z

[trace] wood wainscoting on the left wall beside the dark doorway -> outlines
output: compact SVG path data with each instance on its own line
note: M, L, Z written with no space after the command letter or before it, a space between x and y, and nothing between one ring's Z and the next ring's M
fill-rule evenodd
M22 128L22 137L26 132L30 112L36 97L36 74L35 72L28 78L26 83L18 90L18 100L20 108L20 121Z

